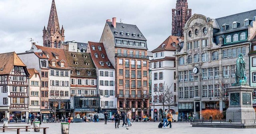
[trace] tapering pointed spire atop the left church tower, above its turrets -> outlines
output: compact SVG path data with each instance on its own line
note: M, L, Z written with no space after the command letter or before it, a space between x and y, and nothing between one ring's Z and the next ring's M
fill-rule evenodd
M51 32L51 30L53 33L60 31L60 24L59 24L57 10L56 10L54 0L52 0L52 6L51 6L51 11L50 11L48 26L47 26L47 31Z

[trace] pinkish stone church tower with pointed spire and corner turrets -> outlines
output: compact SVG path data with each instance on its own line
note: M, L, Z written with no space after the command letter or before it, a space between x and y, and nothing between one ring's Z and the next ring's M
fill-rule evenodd
M58 20L57 10L54 0L52 0L52 7L48 20L47 29L44 26L43 30L43 45L50 48L63 48L62 42L64 42L64 28L62 26L60 30L60 24Z

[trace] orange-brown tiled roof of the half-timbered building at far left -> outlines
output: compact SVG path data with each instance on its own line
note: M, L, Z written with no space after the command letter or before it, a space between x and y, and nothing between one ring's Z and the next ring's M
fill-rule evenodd
M0 75L1 74L10 74L13 66L25 66L26 65L20 60L18 55L15 52L8 52L0 54ZM3 70L1 70L1 68Z

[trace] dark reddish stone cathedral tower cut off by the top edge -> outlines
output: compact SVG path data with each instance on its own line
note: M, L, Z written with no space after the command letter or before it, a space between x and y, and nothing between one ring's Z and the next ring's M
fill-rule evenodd
M172 9L172 35L184 36L183 27L191 17L191 9L188 9L188 0L177 0L176 9Z

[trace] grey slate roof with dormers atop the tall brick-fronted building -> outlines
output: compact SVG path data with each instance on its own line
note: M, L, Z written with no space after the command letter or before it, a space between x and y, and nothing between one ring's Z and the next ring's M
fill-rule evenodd
M114 37L116 37L116 38L127 38L127 39L133 39L133 40L146 41L146 38L143 36L143 34L140 32L139 28L136 25L116 23L116 28L114 28L114 26L112 26L112 22L107 22L107 23L108 23L108 26L110 27ZM114 31L117 31L118 34L114 34ZM121 31L124 32L124 35L120 34ZM129 32L130 36L126 35L126 32ZM136 36L132 36L132 33L135 33ZM142 36L139 37L138 34L142 34Z

